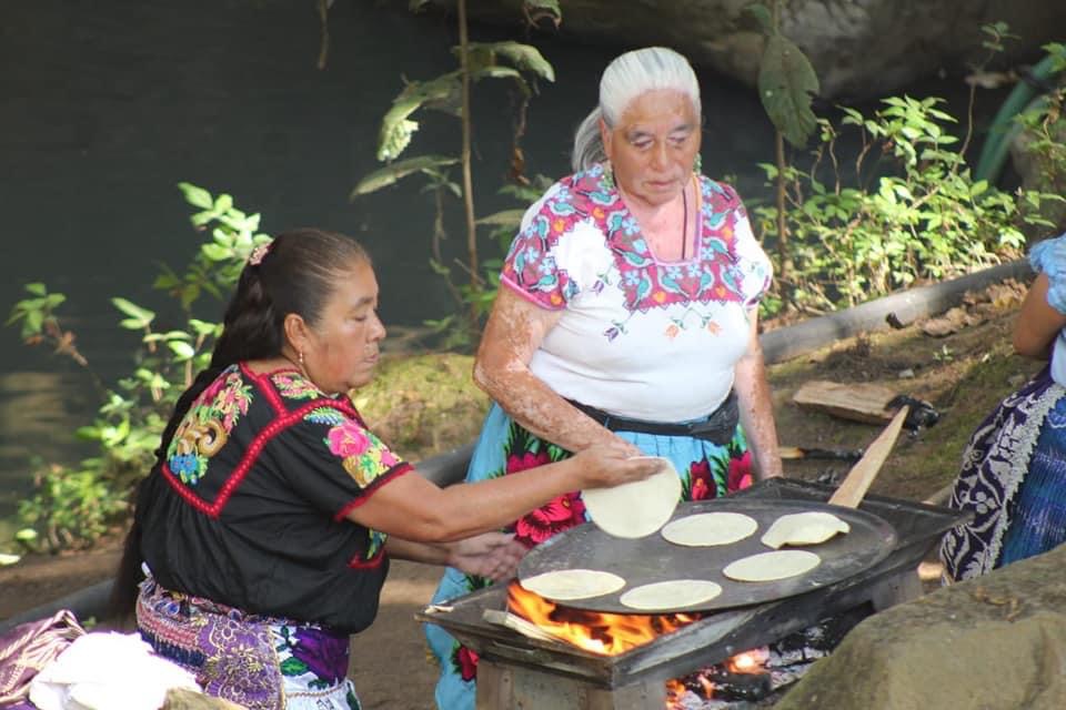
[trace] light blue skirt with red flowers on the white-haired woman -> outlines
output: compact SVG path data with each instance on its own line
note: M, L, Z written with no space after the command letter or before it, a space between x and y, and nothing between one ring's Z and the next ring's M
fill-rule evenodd
M686 436L658 436L634 432L616 434L650 456L663 456L673 462L681 477L684 500L716 498L751 485L751 454L740 426L733 439L725 446ZM570 452L531 434L511 419L499 405L493 405L474 448L466 480L496 478L562 460L570 455ZM587 519L581 495L575 491L560 496L523 516L507 531L514 532L517 539L533 547ZM450 567L441 579L433 601L454 599L491 584L487 579L465 575ZM461 646L439 626L426 625L425 633L441 667L436 686L438 707L441 710L473 710L476 655Z

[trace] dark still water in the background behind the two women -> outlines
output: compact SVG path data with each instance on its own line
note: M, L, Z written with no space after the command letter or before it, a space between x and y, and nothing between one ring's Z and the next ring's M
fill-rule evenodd
M450 21L413 18L405 3L339 0L331 48L315 68L312 2L281 0L8 0L0 28L0 308L43 281L69 296L64 324L104 379L129 372L135 338L108 298L159 308L159 263L179 270L199 237L175 184L231 193L261 212L263 231L318 225L358 236L374 255L386 324L418 325L452 310L428 266L432 203L409 181L355 203L348 193L379 166L378 126L401 77L452 68ZM473 39L495 30L473 28ZM555 67L529 112L530 173L567 172L573 128L621 49L533 37ZM765 197L757 162L772 131L750 90L701 74L704 172L733 176L750 203ZM474 105L479 213L516 206L495 195L506 173L510 99L479 85ZM459 123L421 116L409 154L457 153ZM456 172L457 174L457 172ZM456 252L461 207L449 205ZM491 246L486 246L491 250ZM217 320L221 305L209 306ZM163 325L163 324L161 324ZM0 519L30 489L27 462L72 460L74 427L95 407L78 368L0 329ZM2 524L0 524L2 525ZM6 530L0 528L0 540Z

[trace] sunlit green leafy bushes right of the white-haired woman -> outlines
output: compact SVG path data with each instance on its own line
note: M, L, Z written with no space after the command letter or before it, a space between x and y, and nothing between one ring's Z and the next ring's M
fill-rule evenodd
M808 312L849 306L916 281L941 280L1016 258L1022 223L1043 223L1019 201L974 181L941 99L889 98L873 116L844 109L841 125L819 121L808 171L786 168L791 297ZM835 154L843 131L859 134L851 172ZM872 156L877 164L868 164ZM828 162L828 165L824 163ZM776 180L776 165L763 165ZM1027 192L1039 203L1054 195ZM764 239L777 236L777 209L755 211Z

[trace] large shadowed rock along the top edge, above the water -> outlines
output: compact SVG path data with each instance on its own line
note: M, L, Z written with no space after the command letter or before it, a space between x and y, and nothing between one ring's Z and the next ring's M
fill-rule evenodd
M455 0L431 0L454 8ZM750 0L562 0L560 31L621 47L667 44L694 63L754 84L763 39L743 11ZM770 6L771 2L765 2ZM1007 61L1032 61L1062 40L1063 0L791 0L782 32L807 54L822 95L882 97L985 54L980 26L1009 23ZM519 0L467 0L470 17L514 23Z

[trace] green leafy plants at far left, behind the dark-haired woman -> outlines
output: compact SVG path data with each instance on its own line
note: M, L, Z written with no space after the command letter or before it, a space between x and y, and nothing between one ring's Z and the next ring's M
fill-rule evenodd
M88 547L128 511L133 486L150 469L167 417L178 395L210 361L222 326L197 318L193 304L204 294L224 297L240 275L251 251L270 241L258 233L259 215L233 206L230 195L181 183L185 201L198 211L191 222L208 239L181 273L162 266L157 288L178 302L182 325L158 329L155 312L117 296L118 326L140 334L132 371L105 386L74 348L73 334L60 326L56 310L64 296L50 294L40 283L27 285L30 298L14 304L9 325L19 324L30 345L51 344L73 358L93 378L101 403L93 422L77 435L99 453L76 466L51 463L34 467L37 491L19 505L23 525L18 539L27 547L52 550Z

